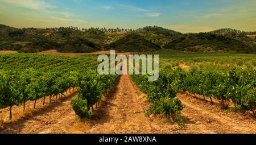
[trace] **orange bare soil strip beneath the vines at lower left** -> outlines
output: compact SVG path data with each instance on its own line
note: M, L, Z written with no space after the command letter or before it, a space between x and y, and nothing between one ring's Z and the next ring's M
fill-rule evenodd
M13 107L13 118L9 120L9 108L0 111L1 120L4 121L0 127L0 133L38 133L40 130L47 129L53 122L58 121L62 115L73 112L70 101L76 96L76 89L71 93L66 92L66 97L52 97L49 103L49 97L46 97L45 105L43 99L36 103L34 109L34 101L26 102L25 111L23 105ZM67 107L67 108L66 108ZM1 130L2 129L2 130Z

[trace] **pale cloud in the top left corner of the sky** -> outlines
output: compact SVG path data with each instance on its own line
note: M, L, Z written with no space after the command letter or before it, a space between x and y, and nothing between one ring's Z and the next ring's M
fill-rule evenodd
M0 0L0 2L7 3L16 7L24 7L27 9L42 10L47 8L53 8L50 3L40 0Z

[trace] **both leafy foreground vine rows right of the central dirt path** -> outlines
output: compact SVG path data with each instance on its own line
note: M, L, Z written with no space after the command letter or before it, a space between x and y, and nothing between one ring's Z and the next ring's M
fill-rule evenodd
M234 103L231 111L251 111L256 117L256 71L236 73L233 69L228 72L196 71L185 72L182 69L170 71L162 69L158 81L148 81L147 76L131 76L139 88L148 94L152 106L148 113L164 113L174 122L182 126L180 111L183 105L175 97L177 93L188 91L220 100L221 109L228 109L229 101ZM170 117L171 115L171 117Z

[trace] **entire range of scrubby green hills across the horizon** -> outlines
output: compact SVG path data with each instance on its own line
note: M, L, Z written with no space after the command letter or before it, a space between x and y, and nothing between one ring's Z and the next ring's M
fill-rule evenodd
M39 52L145 52L160 48L180 51L256 53L256 32L224 28L207 33L181 34L158 26L123 28L14 28L0 24L0 50Z

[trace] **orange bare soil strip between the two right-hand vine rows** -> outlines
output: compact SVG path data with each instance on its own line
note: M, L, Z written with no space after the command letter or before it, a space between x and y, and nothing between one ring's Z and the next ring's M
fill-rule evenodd
M185 105L181 115L189 132L256 133L256 121L250 113L222 110L217 100L213 99L214 105L210 105L209 98L204 101L203 96L188 92L178 94L177 98Z

